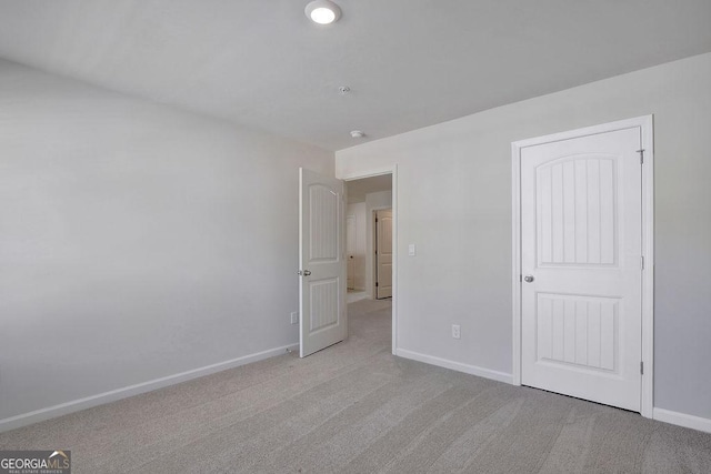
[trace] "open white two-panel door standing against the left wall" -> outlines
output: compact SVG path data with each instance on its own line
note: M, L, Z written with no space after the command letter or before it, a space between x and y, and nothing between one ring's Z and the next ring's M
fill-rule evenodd
M299 169L299 342L306 357L348 335L343 182Z

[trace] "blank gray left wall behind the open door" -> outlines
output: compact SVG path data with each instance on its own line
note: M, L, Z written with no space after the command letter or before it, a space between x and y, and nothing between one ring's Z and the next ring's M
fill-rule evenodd
M333 154L0 61L0 420L298 342Z

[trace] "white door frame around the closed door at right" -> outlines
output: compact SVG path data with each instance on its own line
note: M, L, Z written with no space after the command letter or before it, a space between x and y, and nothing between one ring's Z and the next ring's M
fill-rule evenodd
M652 115L620 120L562 133L553 133L511 143L512 198L512 302L513 302L513 366L512 383L521 385L521 150L542 143L639 128L642 137L642 375L641 413L651 418L654 387L654 141Z

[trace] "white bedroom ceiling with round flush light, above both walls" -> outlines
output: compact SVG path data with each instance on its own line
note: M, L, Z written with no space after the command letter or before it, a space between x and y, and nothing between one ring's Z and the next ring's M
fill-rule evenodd
M710 0L337 2L0 0L0 57L339 150L711 51Z

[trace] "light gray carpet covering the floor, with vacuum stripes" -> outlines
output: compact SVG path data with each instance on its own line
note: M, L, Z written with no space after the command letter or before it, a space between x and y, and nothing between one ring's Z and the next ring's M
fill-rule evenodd
M390 303L348 341L0 434L74 473L711 473L711 434L390 354Z

